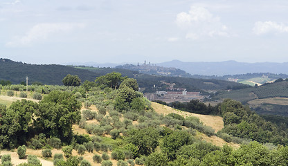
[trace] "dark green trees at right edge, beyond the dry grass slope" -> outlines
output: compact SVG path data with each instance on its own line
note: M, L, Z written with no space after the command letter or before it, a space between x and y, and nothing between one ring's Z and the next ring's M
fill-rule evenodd
M265 121L248 106L235 100L224 100L219 107L224 120L222 132L239 138L249 138L258 142L271 142L274 145L287 145L288 136L285 131Z

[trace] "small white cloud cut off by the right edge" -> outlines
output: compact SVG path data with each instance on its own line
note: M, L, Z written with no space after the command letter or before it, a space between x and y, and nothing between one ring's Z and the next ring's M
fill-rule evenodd
M253 33L256 35L264 35L267 33L288 33L288 26L273 21L258 21L254 25Z

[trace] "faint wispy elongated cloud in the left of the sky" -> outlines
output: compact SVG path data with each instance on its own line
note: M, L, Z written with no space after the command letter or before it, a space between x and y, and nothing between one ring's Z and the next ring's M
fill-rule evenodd
M6 46L30 46L33 42L47 39L54 33L69 33L76 28L84 28L85 24L57 23L57 24L37 24L31 28L23 37L15 37Z

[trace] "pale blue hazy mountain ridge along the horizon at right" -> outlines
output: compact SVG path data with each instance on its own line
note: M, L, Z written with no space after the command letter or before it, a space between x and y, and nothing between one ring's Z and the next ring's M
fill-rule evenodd
M284 73L288 74L288 63L244 63L236 61L226 62L181 62L173 60L163 62L157 66L174 67L190 73L191 75L237 75L244 73Z

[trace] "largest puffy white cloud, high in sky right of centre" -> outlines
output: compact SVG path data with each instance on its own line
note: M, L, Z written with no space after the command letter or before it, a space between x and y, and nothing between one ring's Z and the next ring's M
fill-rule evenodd
M228 37L228 28L206 8L191 6L189 12L180 12L176 24L186 32L188 39Z

